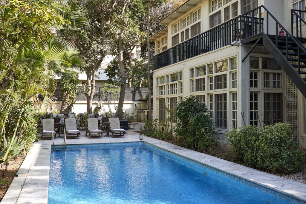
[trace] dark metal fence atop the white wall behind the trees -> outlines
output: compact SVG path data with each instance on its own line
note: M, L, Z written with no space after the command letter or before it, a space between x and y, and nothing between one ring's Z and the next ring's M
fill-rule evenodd
M149 92L148 87L125 87L124 100L125 101L135 101L135 100L147 98L148 92ZM56 101L62 100L62 94L59 91L59 85L56 87L54 96L56 98ZM114 91L105 92L103 87L96 86L93 101L118 101L119 96L120 96L120 91L118 93ZM82 92L81 87L78 87L76 89L76 101L87 101L87 98L85 94Z

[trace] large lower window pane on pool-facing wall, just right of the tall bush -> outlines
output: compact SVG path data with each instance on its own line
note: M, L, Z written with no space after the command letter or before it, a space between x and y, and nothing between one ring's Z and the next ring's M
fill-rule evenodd
M226 93L215 94L215 122L216 128L227 128Z

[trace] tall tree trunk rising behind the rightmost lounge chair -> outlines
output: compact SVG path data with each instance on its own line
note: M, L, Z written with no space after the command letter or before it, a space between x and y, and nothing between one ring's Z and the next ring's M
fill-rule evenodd
M123 5L121 15L123 16L125 7L126 7L126 2ZM121 21L121 31L120 35L118 38L118 45L119 45L119 52L118 52L118 60L119 60L119 68L120 68L120 74L121 74L121 87L120 87L120 96L119 96L119 101L118 101L118 109L117 109L117 116L121 120L123 117L123 102L124 102L124 95L125 95L125 81L126 81L126 73L124 70L124 62L123 62L123 44L122 44L122 38L123 38L123 33L125 29L125 22L124 20Z

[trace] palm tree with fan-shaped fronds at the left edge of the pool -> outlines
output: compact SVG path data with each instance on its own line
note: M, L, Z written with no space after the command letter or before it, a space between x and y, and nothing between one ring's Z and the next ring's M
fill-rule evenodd
M34 46L36 47L36 46ZM4 40L0 43L1 66L12 67L14 74L6 89L0 90L0 163L8 161L17 136L27 131L25 111L46 111L53 103L55 75L77 73L80 66L78 50L73 44L52 38L39 49L22 52ZM36 107L34 109L34 107ZM14 115L11 113L14 112ZM10 141L9 144L6 141ZM6 145L8 144L8 145ZM23 144L21 144L23 145ZM14 146L15 148L20 148Z

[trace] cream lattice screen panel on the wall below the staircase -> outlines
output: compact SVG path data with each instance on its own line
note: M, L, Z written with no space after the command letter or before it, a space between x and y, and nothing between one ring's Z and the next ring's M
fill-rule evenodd
M299 127L297 87L287 75L285 75L285 91L286 121L291 125L293 139L298 140Z

